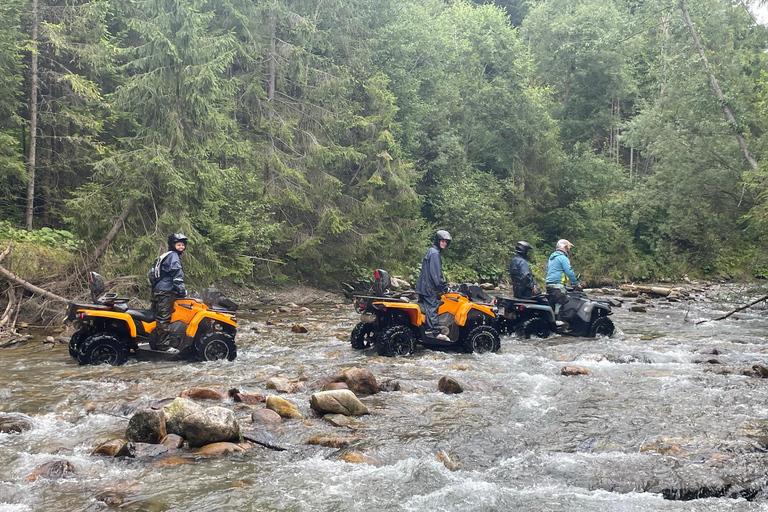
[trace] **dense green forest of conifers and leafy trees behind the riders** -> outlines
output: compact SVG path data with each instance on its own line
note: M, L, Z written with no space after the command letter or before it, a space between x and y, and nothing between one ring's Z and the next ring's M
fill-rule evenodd
M3 0L0 240L138 277L182 231L193 284L410 275L438 228L453 281L559 238L590 284L768 277L747 4Z

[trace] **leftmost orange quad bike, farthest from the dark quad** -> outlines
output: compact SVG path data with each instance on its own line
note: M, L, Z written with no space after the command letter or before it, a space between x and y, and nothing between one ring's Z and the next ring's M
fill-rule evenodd
M173 353L154 350L155 311L130 309L128 300L104 293L104 280L89 273L90 303L70 302L66 321L76 328L69 341L69 355L80 364L124 364L137 359L214 361L237 357L237 304L218 290L201 298L176 299L171 315ZM156 333L155 333L156 334Z

